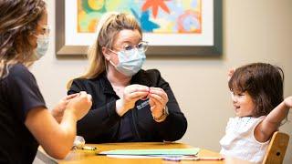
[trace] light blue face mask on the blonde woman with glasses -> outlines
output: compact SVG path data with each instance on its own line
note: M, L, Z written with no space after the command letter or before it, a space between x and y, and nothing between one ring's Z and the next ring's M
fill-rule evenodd
M127 53L125 51L120 51L116 54L119 58L119 64L116 66L111 61L110 63L116 67L120 73L127 77L135 75L141 69L146 59L145 52L138 48L133 48L130 51L127 51Z

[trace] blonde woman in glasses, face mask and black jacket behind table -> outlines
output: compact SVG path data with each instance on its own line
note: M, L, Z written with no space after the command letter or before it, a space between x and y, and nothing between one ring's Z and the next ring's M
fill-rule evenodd
M157 69L141 69L147 42L129 14L108 13L99 20L97 40L89 48L89 69L68 83L68 95L92 95L89 114L78 121L87 141L174 141L187 120L169 84Z

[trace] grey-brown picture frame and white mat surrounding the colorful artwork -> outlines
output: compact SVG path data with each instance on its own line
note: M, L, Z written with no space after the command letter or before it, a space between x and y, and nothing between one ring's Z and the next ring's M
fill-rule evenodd
M203 6L208 6L204 11L207 11L209 17L205 18L205 22L207 22L203 26L208 27L208 30L206 30L206 36L208 36L207 42L204 41L190 41L192 40L192 35L184 35L181 40L185 40L186 42L183 44L177 44L182 43L178 42L178 35L172 35L171 37L164 38L163 35L161 36L154 36L147 37L147 41L151 40L150 46L148 47L148 50L146 52L147 56L221 56L223 52L223 29L222 29L222 0L202 0ZM69 20L74 20L74 16L71 15L71 12L74 14L74 12L77 12L76 10L72 10L76 7L75 2L77 0L56 0L56 54L57 56L75 56L75 55L85 55L87 53L89 43L83 44L84 39L83 37L78 38L76 35L76 32L72 33L74 31L74 26L76 25L70 25ZM209 4L212 4L209 6ZM68 8L68 4L70 5L70 8ZM67 12L69 11L69 15L66 15L66 8ZM211 15L211 16L210 16ZM67 16L67 17L66 17ZM75 16L76 19L76 16ZM71 21L72 22L72 21ZM66 27L68 30L66 30ZM68 34L71 33L71 34ZM93 35L93 36L92 36ZM86 38L90 38L92 40L95 40L94 34L86 34ZM166 35L165 35L166 36ZM182 36L182 35L181 35ZM144 34L143 34L143 37ZM185 37L185 38L184 38ZM89 40L89 39L85 39ZM68 43L72 42L73 43ZM74 41L79 41L78 43L74 43ZM80 42L81 41L81 42ZM168 41L169 43L162 44L165 41ZM202 43L201 43L202 42ZM154 43L154 44L151 44ZM186 44L187 43L187 44ZM189 44L192 43L192 44ZM92 42L93 44L93 42Z

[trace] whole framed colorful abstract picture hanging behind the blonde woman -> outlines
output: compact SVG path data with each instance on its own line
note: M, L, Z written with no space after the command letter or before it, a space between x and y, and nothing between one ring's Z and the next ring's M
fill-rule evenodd
M222 0L56 0L57 55L84 55L108 11L140 22L151 56L220 56Z

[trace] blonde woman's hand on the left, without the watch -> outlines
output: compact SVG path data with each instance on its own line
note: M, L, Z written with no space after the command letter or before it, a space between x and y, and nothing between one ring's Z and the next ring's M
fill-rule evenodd
M149 87L142 85L130 85L124 88L123 97L116 102L116 111L123 116L129 109L135 107L137 100L147 97Z

